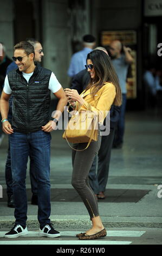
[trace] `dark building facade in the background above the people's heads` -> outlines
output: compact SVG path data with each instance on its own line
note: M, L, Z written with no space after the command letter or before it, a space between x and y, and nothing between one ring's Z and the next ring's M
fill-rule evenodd
M157 53L155 46L162 42L158 25L162 17L161 0L5 0L0 3L0 41L5 44L8 56L12 57L13 46L18 41L37 38L43 45L43 66L54 71L64 88L70 82L67 76L70 58L80 50L84 34L93 34L96 45L101 45L103 31L134 31L136 94L128 100L127 108L144 108L142 72L148 57Z

